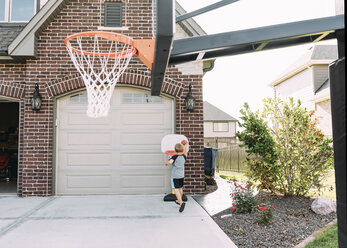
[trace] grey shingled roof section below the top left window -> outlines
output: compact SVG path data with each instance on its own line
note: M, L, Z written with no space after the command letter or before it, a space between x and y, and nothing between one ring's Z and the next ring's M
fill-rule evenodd
M8 45L22 31L25 24L21 23L2 23L0 24L0 55L7 55Z

